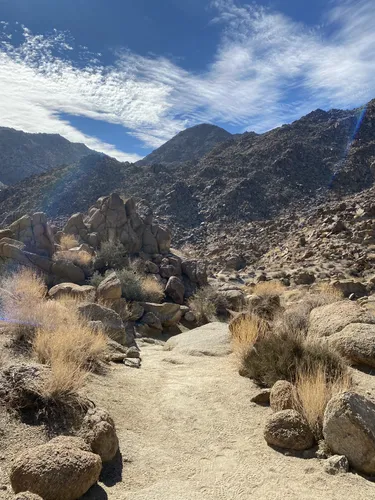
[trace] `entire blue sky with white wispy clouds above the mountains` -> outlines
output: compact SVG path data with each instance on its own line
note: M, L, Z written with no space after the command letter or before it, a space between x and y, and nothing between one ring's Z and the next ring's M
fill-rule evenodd
M0 0L0 125L135 161L375 97L373 0Z

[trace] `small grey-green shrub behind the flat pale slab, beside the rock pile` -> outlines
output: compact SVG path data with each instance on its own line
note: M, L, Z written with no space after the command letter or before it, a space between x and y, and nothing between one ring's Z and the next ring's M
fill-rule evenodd
M189 299L189 307L200 325L228 317L227 299L211 286L197 290Z

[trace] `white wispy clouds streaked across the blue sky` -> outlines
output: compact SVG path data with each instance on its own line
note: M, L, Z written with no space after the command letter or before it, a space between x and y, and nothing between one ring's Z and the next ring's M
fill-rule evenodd
M24 42L14 46L2 25L0 124L60 133L135 161L138 155L83 134L60 115L118 124L145 147L158 147L199 122L260 132L316 107L354 107L375 97L373 0L333 3L314 29L256 4L215 0L212 9L222 37L199 74L127 50L104 67L99 54L82 48L77 66L67 34L22 27Z

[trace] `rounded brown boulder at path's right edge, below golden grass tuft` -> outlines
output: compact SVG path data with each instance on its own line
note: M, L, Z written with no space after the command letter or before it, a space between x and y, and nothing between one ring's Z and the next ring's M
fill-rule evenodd
M269 445L288 450L307 450L314 444L308 423L296 410L271 415L264 428L264 438Z

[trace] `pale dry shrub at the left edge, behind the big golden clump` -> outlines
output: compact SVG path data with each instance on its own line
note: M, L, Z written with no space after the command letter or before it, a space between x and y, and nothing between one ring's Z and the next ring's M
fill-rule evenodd
M28 268L20 268L0 283L1 318L15 338L30 338L40 324L43 299L47 293L44 279Z

